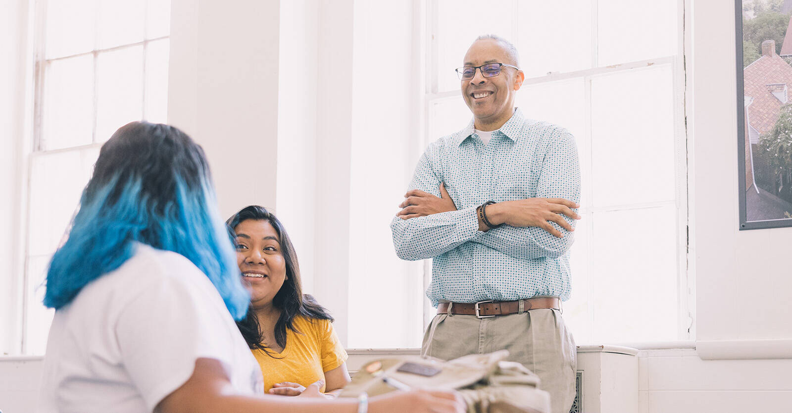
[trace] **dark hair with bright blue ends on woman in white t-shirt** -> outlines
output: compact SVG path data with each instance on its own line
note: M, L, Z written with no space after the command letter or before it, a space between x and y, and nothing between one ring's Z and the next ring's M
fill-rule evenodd
M242 319L250 296L216 205L204 150L185 132L124 125L102 145L68 239L52 256L44 305L69 304L131 258L138 242L188 258Z

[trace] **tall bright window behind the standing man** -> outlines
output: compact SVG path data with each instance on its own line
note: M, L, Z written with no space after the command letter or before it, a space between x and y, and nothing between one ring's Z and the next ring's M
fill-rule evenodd
M428 2L426 141L471 119L455 67L473 40L520 52L525 117L573 133L581 215L564 318L577 342L689 338L682 4Z

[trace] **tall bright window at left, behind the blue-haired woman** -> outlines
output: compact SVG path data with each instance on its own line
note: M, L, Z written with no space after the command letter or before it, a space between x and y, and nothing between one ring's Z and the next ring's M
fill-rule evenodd
M29 158L23 352L44 354L52 312L41 304L99 147L132 120L165 122L168 0L40 0Z

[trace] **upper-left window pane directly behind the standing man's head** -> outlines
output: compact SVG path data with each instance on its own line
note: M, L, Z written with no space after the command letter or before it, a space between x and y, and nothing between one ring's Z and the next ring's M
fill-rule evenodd
M439 0L437 2L438 90L459 90L454 69L463 65L467 48L482 34L512 39L511 0Z

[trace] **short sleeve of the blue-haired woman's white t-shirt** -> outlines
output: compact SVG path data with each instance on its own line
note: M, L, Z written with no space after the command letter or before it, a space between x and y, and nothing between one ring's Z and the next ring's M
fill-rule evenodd
M139 289L116 322L124 368L150 411L185 384L198 358L219 360L226 369L233 361L224 319L230 314L218 308L219 294L197 268L178 271L183 278L163 276Z

